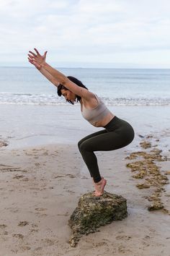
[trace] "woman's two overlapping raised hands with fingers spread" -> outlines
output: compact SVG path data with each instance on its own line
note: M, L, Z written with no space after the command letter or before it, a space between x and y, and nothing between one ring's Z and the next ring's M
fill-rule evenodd
M43 55L40 55L37 49L34 49L36 54L32 51L29 51L30 54L28 54L28 60L30 61L31 64L35 65L35 67L40 70L42 65L45 63L47 51L45 51Z

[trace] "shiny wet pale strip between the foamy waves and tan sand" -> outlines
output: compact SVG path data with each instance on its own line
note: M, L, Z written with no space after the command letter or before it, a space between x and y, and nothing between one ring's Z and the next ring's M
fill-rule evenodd
M109 110L133 126L135 140L129 145L132 150L140 141L139 136L161 135L170 142L170 106L112 106ZM11 149L50 143L75 144L82 137L100 129L82 118L79 106L1 105L0 134L9 142L8 148ZM161 148L164 148L166 141L162 143Z

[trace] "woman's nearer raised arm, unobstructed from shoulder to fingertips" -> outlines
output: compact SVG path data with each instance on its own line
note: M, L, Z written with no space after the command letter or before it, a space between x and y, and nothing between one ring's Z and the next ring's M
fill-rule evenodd
M29 61L32 61L32 64L36 64L40 71L45 69L45 71L48 72L52 77L54 77L55 80L61 83L61 85L64 85L68 90L71 90L71 92L75 93L76 95L85 98L86 101L88 101L90 98L94 98L94 93L89 92L89 90L86 90L85 88L79 87L74 82L71 82L71 80L69 80L68 77L66 77L64 74L59 72L57 69L51 67L45 61L45 59L41 58L41 55L36 48L35 52L36 54L30 51Z

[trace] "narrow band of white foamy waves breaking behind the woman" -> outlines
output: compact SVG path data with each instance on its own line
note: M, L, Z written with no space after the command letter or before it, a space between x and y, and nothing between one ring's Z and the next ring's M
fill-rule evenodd
M100 98L107 106L170 106L170 98ZM0 93L0 104L58 106L68 103L58 95Z

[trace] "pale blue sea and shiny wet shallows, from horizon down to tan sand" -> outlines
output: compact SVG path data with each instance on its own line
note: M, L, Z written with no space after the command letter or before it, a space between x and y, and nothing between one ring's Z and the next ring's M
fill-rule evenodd
M132 124L135 140L128 149L138 145L138 135L161 136L169 144L170 69L58 70L77 77ZM58 97L57 88L33 67L0 67L0 113L0 139L9 148L77 143L102 129L82 118L79 103Z

